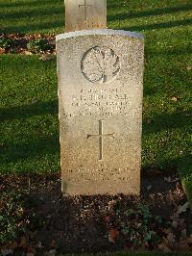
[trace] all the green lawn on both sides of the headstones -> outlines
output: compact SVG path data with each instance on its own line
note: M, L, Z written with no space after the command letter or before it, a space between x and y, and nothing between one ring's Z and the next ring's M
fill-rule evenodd
M63 12L63 0L0 0L1 29L57 34ZM145 35L142 166L178 167L192 198L191 24L191 0L108 0L108 28ZM2 56L0 70L1 172L59 170L56 62Z

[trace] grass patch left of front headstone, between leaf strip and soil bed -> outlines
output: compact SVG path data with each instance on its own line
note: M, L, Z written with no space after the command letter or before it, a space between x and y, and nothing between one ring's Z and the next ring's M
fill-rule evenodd
M56 62L3 56L1 172L60 168Z

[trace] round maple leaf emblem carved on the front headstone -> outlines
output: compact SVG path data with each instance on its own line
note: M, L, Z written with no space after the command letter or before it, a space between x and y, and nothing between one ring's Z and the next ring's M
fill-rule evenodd
M95 46L84 54L81 68L89 82L107 83L120 71L119 57L108 47Z

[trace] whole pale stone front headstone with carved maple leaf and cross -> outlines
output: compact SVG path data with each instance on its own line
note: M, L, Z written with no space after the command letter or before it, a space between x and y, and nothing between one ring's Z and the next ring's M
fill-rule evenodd
M142 36L65 33L57 52L62 192L139 194Z

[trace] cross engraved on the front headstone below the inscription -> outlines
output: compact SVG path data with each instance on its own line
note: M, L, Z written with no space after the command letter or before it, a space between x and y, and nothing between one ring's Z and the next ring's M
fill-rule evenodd
M103 160L104 159L104 138L105 137L114 138L114 133L113 134L104 134L104 120L99 120L99 135L87 134L87 139L89 139L91 137L99 138L99 148L100 148L99 160Z

